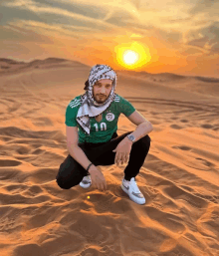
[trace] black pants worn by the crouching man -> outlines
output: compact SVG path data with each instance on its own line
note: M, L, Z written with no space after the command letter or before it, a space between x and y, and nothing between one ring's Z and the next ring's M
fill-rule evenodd
M98 165L111 165L114 164L114 158L116 152L112 150L117 144L131 131L127 131L122 135L113 133L108 142L102 143L79 143L79 146L83 149L87 157L96 166ZM131 177L135 177L139 173L140 167L143 165L145 157L149 151L150 137L148 134L135 141L130 150L129 161L124 168L124 178L130 180ZM56 176L57 183L61 188L69 189L75 185L78 185L84 176L89 172L70 154L61 163L59 172Z

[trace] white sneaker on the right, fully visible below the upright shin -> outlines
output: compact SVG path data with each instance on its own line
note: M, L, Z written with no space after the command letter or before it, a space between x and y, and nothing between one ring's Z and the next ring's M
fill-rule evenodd
M121 182L121 188L125 193L128 194L129 198L135 203L145 203L146 200L143 194L140 192L139 188L137 187L134 177L131 177L130 181L125 180L123 178Z

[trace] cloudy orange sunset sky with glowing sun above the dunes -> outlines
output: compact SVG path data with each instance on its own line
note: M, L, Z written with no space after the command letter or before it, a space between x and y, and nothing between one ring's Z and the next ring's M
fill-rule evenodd
M0 58L219 78L219 1L0 0Z

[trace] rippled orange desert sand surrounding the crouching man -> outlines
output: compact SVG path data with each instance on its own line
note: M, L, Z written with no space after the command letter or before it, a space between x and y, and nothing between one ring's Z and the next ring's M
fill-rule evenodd
M153 126L138 205L120 187L125 166L100 166L105 192L56 182L66 108L90 70L0 59L0 255L218 256L219 80L116 72L115 92ZM120 116L118 135L135 128Z

